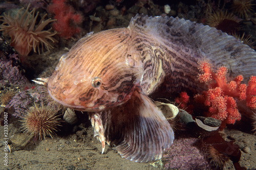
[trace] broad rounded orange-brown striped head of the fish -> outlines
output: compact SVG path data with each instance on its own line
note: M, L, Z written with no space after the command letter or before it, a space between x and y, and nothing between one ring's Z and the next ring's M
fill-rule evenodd
M129 100L143 74L142 66L126 54L121 35L105 31L80 39L49 77L51 97L81 111L101 111ZM116 36L121 38L113 40Z

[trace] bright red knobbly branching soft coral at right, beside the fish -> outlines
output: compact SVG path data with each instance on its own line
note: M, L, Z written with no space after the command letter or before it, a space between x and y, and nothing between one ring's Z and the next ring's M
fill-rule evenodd
M207 116L211 116L222 120L222 127L226 124L234 124L236 120L241 119L241 114L238 111L238 100L246 100L247 106L256 108L256 77L252 76L246 84L241 84L243 76L239 75L232 81L227 82L227 68L220 67L217 72L213 72L209 63L202 62L199 74L200 82L208 83L209 90L203 94L197 94L195 99L197 102L203 103L209 107Z

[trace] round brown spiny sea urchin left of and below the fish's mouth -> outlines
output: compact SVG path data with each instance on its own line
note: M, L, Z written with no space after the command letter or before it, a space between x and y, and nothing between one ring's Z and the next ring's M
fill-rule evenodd
M52 137L52 134L58 130L60 126L60 118L57 115L58 110L53 106L38 107L36 104L34 107L30 107L27 110L27 115L20 120L22 122L22 129L24 132L35 135L42 139L45 139L46 135ZM55 131L55 132L54 132Z

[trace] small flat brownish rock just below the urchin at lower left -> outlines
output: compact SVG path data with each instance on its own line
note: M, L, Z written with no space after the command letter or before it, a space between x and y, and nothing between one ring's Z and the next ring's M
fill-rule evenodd
M15 134L10 138L11 143L15 148L23 149L33 140L34 135L25 133Z

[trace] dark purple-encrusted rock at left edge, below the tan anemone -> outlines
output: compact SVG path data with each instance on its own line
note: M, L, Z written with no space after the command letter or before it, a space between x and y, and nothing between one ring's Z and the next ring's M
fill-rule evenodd
M8 59L0 58L0 84L10 84L13 86L23 86L28 83L27 78L23 75L22 69L19 68L17 54L8 56Z

